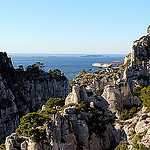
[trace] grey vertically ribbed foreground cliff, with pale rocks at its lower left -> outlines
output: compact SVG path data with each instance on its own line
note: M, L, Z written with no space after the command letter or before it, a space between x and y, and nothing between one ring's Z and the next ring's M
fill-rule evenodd
M91 113L68 106L63 111L53 114L45 126L47 138L40 145L27 137L12 134L6 138L7 150L16 149L51 149L51 150L100 150L115 147L113 126L94 109ZM98 110L98 109L97 109ZM42 127L43 128L43 127ZM113 142L113 144L111 143Z

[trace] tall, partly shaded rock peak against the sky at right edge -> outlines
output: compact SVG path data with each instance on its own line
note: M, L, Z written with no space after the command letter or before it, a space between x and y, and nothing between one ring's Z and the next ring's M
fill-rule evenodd
M135 86L148 86L150 84L150 35L134 41L132 46L131 65L124 72L124 79L129 83L131 90Z

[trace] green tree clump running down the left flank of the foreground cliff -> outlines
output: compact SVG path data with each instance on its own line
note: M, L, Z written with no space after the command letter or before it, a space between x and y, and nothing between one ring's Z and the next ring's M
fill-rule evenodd
M19 135L31 137L34 142L42 143L46 139L46 124L51 120L51 115L57 112L57 109L53 107L63 105L64 99L50 98L45 104L45 110L23 116L16 132Z

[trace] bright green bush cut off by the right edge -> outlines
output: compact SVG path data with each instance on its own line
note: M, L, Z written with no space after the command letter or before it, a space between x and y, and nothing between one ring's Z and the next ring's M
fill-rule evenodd
M143 101L143 106L148 107L150 110L150 86L148 86L147 88L144 87L143 89L141 89L141 96L140 96L141 100Z

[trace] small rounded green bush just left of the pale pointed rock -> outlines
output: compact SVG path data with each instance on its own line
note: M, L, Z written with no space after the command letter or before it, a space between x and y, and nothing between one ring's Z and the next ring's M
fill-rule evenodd
M62 98L50 98L46 104L46 108L53 108L54 106L64 106L65 105L65 100Z

